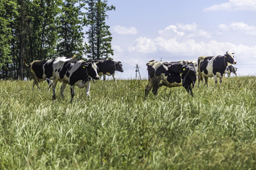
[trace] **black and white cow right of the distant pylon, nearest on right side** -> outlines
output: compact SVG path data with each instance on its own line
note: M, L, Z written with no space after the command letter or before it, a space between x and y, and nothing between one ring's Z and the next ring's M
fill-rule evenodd
M176 87L183 86L191 96L192 89L196 84L196 69L193 63L188 62L156 62L154 60L146 63L149 73L149 84L145 88L145 97L149 91L154 95L161 86Z

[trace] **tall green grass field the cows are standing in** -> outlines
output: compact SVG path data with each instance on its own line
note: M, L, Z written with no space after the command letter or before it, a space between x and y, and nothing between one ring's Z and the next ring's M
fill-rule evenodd
M0 169L256 169L256 77L222 86L96 81L90 98L0 81Z

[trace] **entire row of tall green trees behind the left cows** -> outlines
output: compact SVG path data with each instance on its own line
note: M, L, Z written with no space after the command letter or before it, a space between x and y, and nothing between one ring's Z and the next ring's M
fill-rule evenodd
M112 10L107 0L0 0L0 79L30 77L24 61L110 58Z

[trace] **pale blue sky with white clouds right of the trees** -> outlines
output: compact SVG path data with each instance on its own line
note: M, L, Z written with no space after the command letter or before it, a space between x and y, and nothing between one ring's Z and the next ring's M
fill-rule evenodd
M119 79L147 78L149 60L197 60L235 52L239 75L256 74L256 0L108 0Z

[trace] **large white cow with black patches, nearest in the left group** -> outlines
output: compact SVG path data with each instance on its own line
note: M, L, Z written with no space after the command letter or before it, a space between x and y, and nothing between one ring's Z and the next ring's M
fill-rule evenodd
M53 99L55 99L55 87L58 81L63 84L60 94L64 97L64 90L70 84L71 102L75 95L74 88L86 88L86 95L90 95L90 79L100 79L97 74L95 62L85 62L84 60L70 59L68 57L58 57L53 61Z

